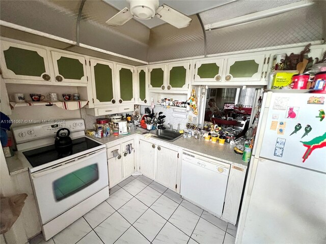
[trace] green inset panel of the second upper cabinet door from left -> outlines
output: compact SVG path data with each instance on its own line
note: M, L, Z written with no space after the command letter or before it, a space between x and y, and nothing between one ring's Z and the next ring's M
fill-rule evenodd
M57 64L59 74L65 79L80 80L85 76L84 65L78 59L60 57Z

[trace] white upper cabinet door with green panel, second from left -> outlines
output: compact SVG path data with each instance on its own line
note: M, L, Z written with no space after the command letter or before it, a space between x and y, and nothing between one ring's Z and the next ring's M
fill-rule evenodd
M84 56L51 51L57 82L87 83Z

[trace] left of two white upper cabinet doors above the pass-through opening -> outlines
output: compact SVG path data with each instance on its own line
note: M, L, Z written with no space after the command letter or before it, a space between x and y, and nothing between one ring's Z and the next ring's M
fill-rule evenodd
M222 81L223 58L197 60L193 84L219 84Z

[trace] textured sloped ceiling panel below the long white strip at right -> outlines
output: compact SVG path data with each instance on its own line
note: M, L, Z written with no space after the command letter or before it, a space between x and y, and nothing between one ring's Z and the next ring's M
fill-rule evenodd
M322 12L317 5L280 15L206 31L207 54L322 40Z

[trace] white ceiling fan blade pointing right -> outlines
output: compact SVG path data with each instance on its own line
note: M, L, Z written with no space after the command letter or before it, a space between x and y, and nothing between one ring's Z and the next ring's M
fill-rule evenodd
M157 8L156 16L177 28L187 27L193 20L166 4Z

